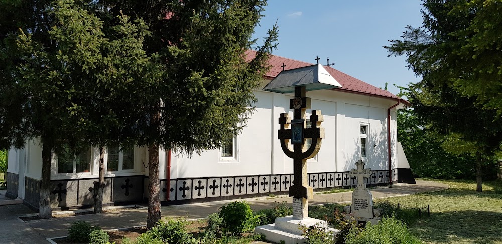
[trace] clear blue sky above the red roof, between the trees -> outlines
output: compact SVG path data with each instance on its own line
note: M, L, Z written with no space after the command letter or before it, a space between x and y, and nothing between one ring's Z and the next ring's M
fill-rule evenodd
M394 94L419 78L405 57L387 57L382 47L400 39L406 25L422 25L419 0L269 0L255 37L265 36L278 19L279 46L274 55L325 65Z

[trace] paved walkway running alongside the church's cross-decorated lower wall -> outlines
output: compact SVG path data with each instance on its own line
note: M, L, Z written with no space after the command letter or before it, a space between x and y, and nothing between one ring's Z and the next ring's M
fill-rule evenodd
M373 198L385 198L400 196L406 194L414 194L417 192L437 191L448 188L445 184L431 182L431 181L417 181L417 184L394 184L392 188L379 187L371 190ZM331 194L314 194L314 199L309 201L309 205L326 204L326 203L342 203L351 200L352 192L341 192ZM287 201L291 204L292 198L290 197L276 197L267 199L249 198L245 199L250 203L253 210L264 208L272 208L274 202ZM207 215L218 212L218 209L224 204L235 201L216 201L207 203L185 204L176 206L162 207L162 216L179 217L186 216L188 219L205 218ZM11 209L12 208L12 209ZM15 209L14 209L15 208ZM22 212L22 213L18 213ZM39 239L53 238L67 235L67 229L71 222L77 220L84 220L92 224L99 225L103 229L117 229L124 227L132 227L146 224L147 210L146 209L133 209L119 212L109 212L103 214L88 214L80 216L71 216L64 218L52 218L43 220L32 220L22 222L18 216L29 213L30 210L23 205L0 206L0 226L6 226L4 221L10 221L10 224L17 224L16 227L7 227L0 230L0 243L23 243L21 240L25 238L32 238L29 240L31 243L44 243L38 242ZM6 219L6 220L4 220ZM7 224L7 226L10 226ZM20 227L21 226L21 227ZM18 229L21 229L18 230ZM26 234L23 231L27 231ZM32 230L32 231L29 231ZM6 238L7 236L7 238ZM34 237L32 237L34 236ZM38 237L38 239L36 238ZM43 238L41 238L43 237ZM15 241L14 241L15 240ZM27 240L28 242L28 240Z

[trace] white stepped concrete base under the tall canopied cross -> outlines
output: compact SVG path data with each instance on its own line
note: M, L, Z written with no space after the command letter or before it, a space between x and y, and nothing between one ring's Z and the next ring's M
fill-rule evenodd
M304 218L303 220L293 219L293 216L277 218L273 224L255 227L255 232L265 235L267 241L285 244L301 244L305 242L302 231L298 226L307 227L318 225L325 228L326 231L333 233L333 237L340 231L338 229L328 228L328 223L324 220L315 218ZM284 242L281 242L284 241Z

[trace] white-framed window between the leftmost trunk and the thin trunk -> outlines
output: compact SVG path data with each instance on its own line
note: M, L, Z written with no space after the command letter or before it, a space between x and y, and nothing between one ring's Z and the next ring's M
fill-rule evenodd
M72 153L69 147L58 154L58 173L86 173L91 170L91 149L85 148Z

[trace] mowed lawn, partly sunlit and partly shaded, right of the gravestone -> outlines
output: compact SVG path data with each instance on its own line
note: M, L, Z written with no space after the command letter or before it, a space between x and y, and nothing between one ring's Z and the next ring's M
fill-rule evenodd
M450 188L385 199L407 207L430 206L430 217L410 224L412 233L426 243L502 244L502 181L483 183L483 192L475 191L475 181L435 181Z

